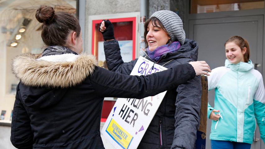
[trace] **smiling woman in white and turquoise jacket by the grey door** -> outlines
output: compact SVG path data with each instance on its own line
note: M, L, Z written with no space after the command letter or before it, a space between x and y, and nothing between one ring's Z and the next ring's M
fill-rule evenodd
M212 70L209 90L215 89L214 108L208 104L212 119L212 149L250 149L258 123L265 139L265 90L262 75L249 60L249 45L240 36L225 43L225 66Z

